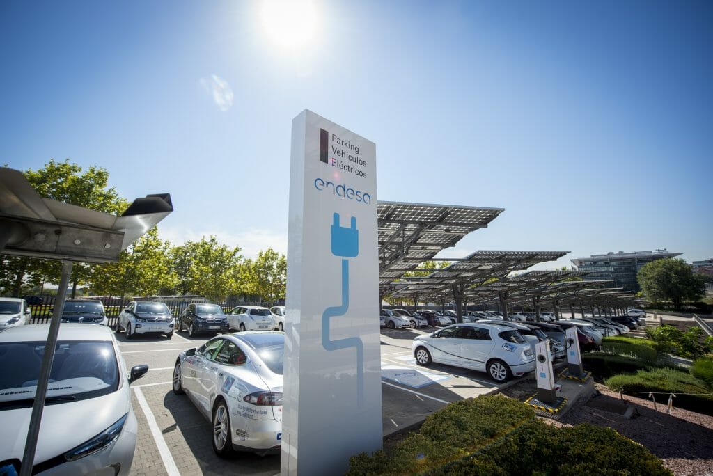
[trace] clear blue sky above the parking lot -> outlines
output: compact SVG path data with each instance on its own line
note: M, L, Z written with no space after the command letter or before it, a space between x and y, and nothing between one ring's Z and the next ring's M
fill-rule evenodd
M163 239L286 252L308 108L376 143L379 200L506 209L446 257L713 257L712 2L311 5L0 2L0 164L99 165L170 192Z

